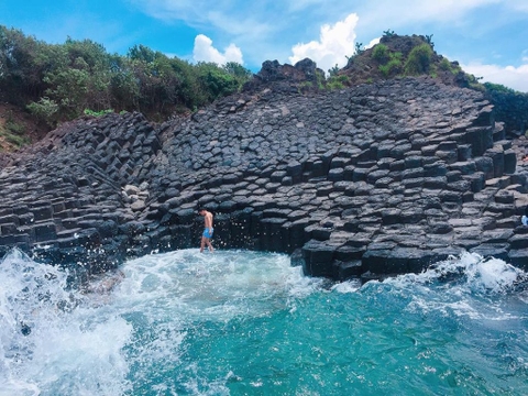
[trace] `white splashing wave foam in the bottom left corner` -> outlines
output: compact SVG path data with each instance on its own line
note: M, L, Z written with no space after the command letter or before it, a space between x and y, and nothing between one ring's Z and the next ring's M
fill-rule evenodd
M79 292L67 290L66 277L19 251L0 262L3 392L117 395L127 389L121 349L130 324L94 309Z

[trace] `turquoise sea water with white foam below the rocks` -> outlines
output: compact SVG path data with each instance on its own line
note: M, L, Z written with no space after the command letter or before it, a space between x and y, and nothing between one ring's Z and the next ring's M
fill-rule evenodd
M84 290L0 261L0 395L527 395L524 272L475 254L332 284L282 254L198 249Z

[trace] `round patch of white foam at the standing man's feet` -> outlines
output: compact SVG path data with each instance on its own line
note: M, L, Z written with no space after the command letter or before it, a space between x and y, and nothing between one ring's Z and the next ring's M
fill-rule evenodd
M265 315L273 309L266 301L301 297L322 282L302 276L284 254L238 251L182 250L130 261L122 271L117 295L127 304L135 299L146 310L169 307L182 318L221 321Z

